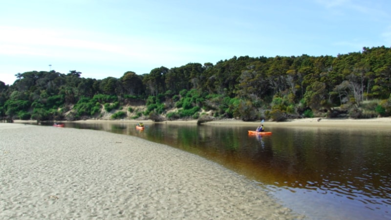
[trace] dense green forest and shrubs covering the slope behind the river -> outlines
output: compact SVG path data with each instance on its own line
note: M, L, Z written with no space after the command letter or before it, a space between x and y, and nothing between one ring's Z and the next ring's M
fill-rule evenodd
M302 117L391 115L391 48L333 56L233 57L120 78L69 73L16 74L0 81L0 119L176 120L202 115L283 121Z

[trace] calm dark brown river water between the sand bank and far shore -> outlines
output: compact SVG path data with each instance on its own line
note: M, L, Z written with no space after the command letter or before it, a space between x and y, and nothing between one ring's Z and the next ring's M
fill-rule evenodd
M308 219L391 219L391 133L384 130L246 126L78 124L198 154L256 181Z

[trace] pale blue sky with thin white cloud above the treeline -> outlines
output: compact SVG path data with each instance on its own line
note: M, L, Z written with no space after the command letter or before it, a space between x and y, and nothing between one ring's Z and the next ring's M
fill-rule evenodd
M391 46L390 0L1 0L0 81Z

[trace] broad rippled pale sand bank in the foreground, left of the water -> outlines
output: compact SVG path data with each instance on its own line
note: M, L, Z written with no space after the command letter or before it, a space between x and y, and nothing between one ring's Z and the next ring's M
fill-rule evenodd
M0 123L0 219L294 219L243 176L109 132Z

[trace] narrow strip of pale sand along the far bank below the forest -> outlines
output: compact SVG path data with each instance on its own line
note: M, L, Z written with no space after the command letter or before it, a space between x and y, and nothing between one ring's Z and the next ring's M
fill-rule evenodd
M15 123L32 123L35 120L15 120ZM59 121L60 122L60 121ZM69 122L69 121L62 121ZM101 119L87 119L71 121L73 123L138 123L143 122L145 125L159 123L159 124L182 124L182 125L196 125L197 120L174 120L153 122L152 120L134 120L134 119L121 119L121 120L101 120ZM219 119L202 123L204 125L213 126L255 126L260 125L261 121L246 122L237 119ZM351 118L303 118L303 119L291 119L284 122L265 121L263 124L267 127L328 127L328 128L391 128L391 117L382 118L369 118L369 119L351 119Z

